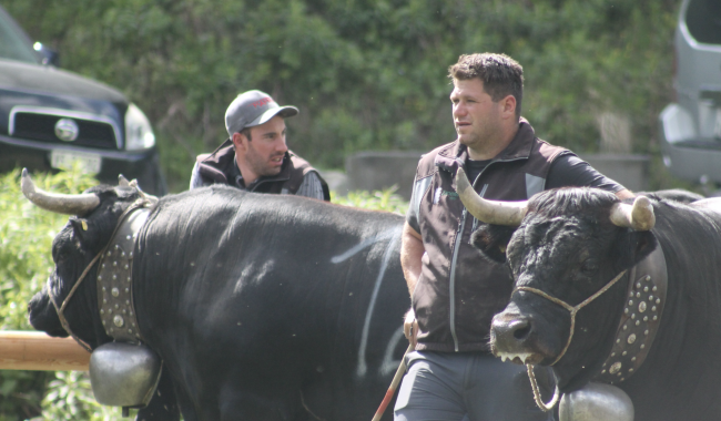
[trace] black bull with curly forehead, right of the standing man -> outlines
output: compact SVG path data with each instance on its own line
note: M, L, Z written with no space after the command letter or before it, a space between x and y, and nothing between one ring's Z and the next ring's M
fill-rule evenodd
M579 310L566 353L570 312L542 295L577 306L661 247L668 295L660 327L643 364L617 386L631 398L637 421L719 420L721 207L650 196L650 230L611 223L618 203L612 194L570 188L532 197L517 227L501 222L507 226L475 233L473 242L488 258L507 261L520 287L494 318L491 348L517 363L552 364L561 392L582 388L601 372L613 346L628 273Z

